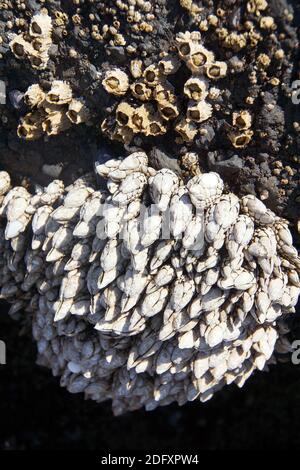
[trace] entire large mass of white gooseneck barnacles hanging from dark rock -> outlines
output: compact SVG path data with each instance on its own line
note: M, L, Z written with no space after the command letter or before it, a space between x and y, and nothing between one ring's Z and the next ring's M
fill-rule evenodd
M285 220L216 173L187 184L144 152L31 195L0 173L0 293L38 363L116 414L206 401L290 349L300 260Z

